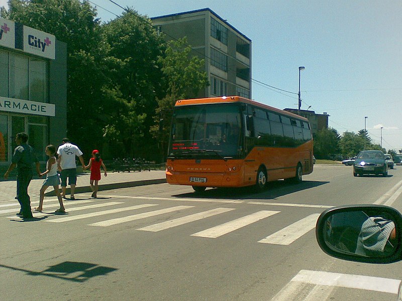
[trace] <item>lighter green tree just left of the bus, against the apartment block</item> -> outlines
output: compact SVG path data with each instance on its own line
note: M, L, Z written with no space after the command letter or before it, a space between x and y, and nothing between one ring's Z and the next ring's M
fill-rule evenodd
M209 85L207 73L202 71L205 61L197 56L191 57L190 51L187 39L183 38L168 42L164 56L159 58L167 92L165 97L158 99L155 125L150 131L153 137L160 141L162 157L167 149L175 102L179 99L194 98L200 90ZM163 122L160 122L161 120Z

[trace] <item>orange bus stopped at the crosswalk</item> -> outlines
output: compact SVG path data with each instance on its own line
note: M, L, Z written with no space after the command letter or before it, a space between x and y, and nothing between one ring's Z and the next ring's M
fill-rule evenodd
M207 187L254 186L313 172L308 119L239 96L178 100L166 180Z

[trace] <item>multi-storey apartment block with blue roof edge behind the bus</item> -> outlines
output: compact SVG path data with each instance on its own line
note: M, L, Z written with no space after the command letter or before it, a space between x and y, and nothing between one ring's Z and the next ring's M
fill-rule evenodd
M191 54L205 60L210 86L194 95L251 98L251 40L210 9L151 18L166 40L187 37Z

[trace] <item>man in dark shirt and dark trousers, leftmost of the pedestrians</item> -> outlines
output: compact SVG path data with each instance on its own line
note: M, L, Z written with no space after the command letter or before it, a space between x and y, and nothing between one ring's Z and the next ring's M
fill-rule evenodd
M38 175L41 171L34 149L27 144L27 141L27 133L18 133L16 135L16 143L18 146L14 149L13 159L11 160L10 167L4 175L4 178L7 180L10 172L17 166L17 196L18 202L21 205L21 210L17 215L23 218L32 218L31 200L28 195L28 186L33 176L32 164L36 164L36 172Z

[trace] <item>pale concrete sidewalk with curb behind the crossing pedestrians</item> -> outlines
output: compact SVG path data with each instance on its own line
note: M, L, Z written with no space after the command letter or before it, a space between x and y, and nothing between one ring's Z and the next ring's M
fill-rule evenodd
M33 179L28 188L28 194L31 197L31 201L39 200L39 191L42 187L44 179ZM68 182L67 182L68 183ZM98 183L99 191L160 184L166 183L165 171L143 171L143 172L131 172L131 173L108 173L107 177L104 177L102 173L102 179ZM61 186L59 186L61 191ZM0 202L12 201L16 196L17 181L0 181ZM77 186L75 187L75 193L91 192L89 186L89 173L78 175ZM74 194L75 194L74 193ZM70 194L69 185L67 185L66 195L67 198ZM54 196L53 187L49 187L45 196ZM16 200L17 202L17 200Z

